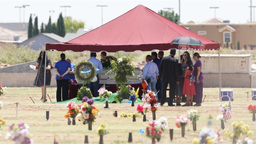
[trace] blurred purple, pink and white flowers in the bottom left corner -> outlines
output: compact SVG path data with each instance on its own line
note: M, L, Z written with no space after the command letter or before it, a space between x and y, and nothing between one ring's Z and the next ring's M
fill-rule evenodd
M29 126L25 123L12 124L9 126L10 133L6 133L5 139L11 139L16 144L32 144L31 136L29 135Z

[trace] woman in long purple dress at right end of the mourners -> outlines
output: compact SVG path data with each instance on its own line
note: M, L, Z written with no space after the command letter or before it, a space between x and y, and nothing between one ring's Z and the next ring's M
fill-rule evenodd
M196 96L194 97L194 101L196 104L194 106L201 106L202 98L203 98L203 81L204 81L204 74L202 73L202 62L199 60L201 56L199 53L195 52L193 54L193 58L196 61L194 65L194 76L196 77Z

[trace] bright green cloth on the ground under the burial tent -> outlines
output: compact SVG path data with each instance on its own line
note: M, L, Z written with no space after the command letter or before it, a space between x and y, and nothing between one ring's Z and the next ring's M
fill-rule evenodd
M117 95L117 93L113 93L110 95L108 98L108 103L112 103L114 101L114 97ZM93 98L95 103L105 103L105 99L100 99L99 97ZM82 103L81 100L77 100L76 98L70 99L70 100L65 100L65 101L60 101L60 102L52 102L52 103L60 103L60 104L66 104L68 101L74 101L76 103ZM142 103L140 99L137 99L134 103Z

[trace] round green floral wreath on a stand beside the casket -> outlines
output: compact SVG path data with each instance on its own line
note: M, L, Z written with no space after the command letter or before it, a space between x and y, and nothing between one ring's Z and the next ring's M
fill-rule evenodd
M88 75L82 75L80 68L87 67L91 69ZM81 61L75 67L76 79L83 81L84 83L89 83L92 81L93 77L96 76L96 68L92 65L91 61Z

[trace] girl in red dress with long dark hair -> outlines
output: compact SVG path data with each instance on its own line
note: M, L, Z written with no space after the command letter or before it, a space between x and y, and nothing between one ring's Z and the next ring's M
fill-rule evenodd
M182 94L187 95L187 102L186 104L184 104L183 106L193 106L193 95L196 95L196 90L195 90L195 84L194 82L190 82L190 73L193 74L193 67L192 67L192 61L188 60L186 62L186 70L185 70L185 74L184 74L184 84L183 84L183 90L182 90Z

